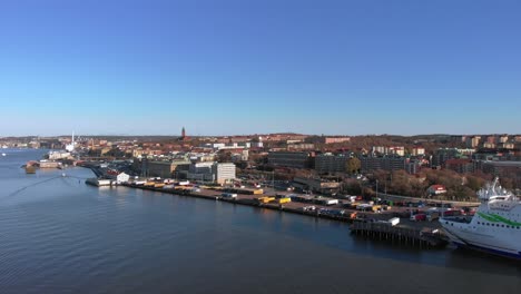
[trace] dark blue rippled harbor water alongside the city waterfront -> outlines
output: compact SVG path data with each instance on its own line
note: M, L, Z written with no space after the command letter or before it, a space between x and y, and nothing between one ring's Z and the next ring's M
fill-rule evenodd
M520 293L519 262L397 248L345 224L83 184L0 157L0 293ZM61 173L67 177L61 177Z

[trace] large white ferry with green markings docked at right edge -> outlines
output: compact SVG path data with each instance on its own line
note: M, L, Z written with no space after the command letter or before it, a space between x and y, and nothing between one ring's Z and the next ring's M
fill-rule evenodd
M441 217L446 235L459 247L521 259L521 202L498 184L478 192L481 205L472 217Z

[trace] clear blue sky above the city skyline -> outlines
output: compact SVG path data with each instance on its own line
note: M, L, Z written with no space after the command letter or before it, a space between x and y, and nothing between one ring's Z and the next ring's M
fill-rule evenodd
M521 133L521 2L6 0L0 136Z

